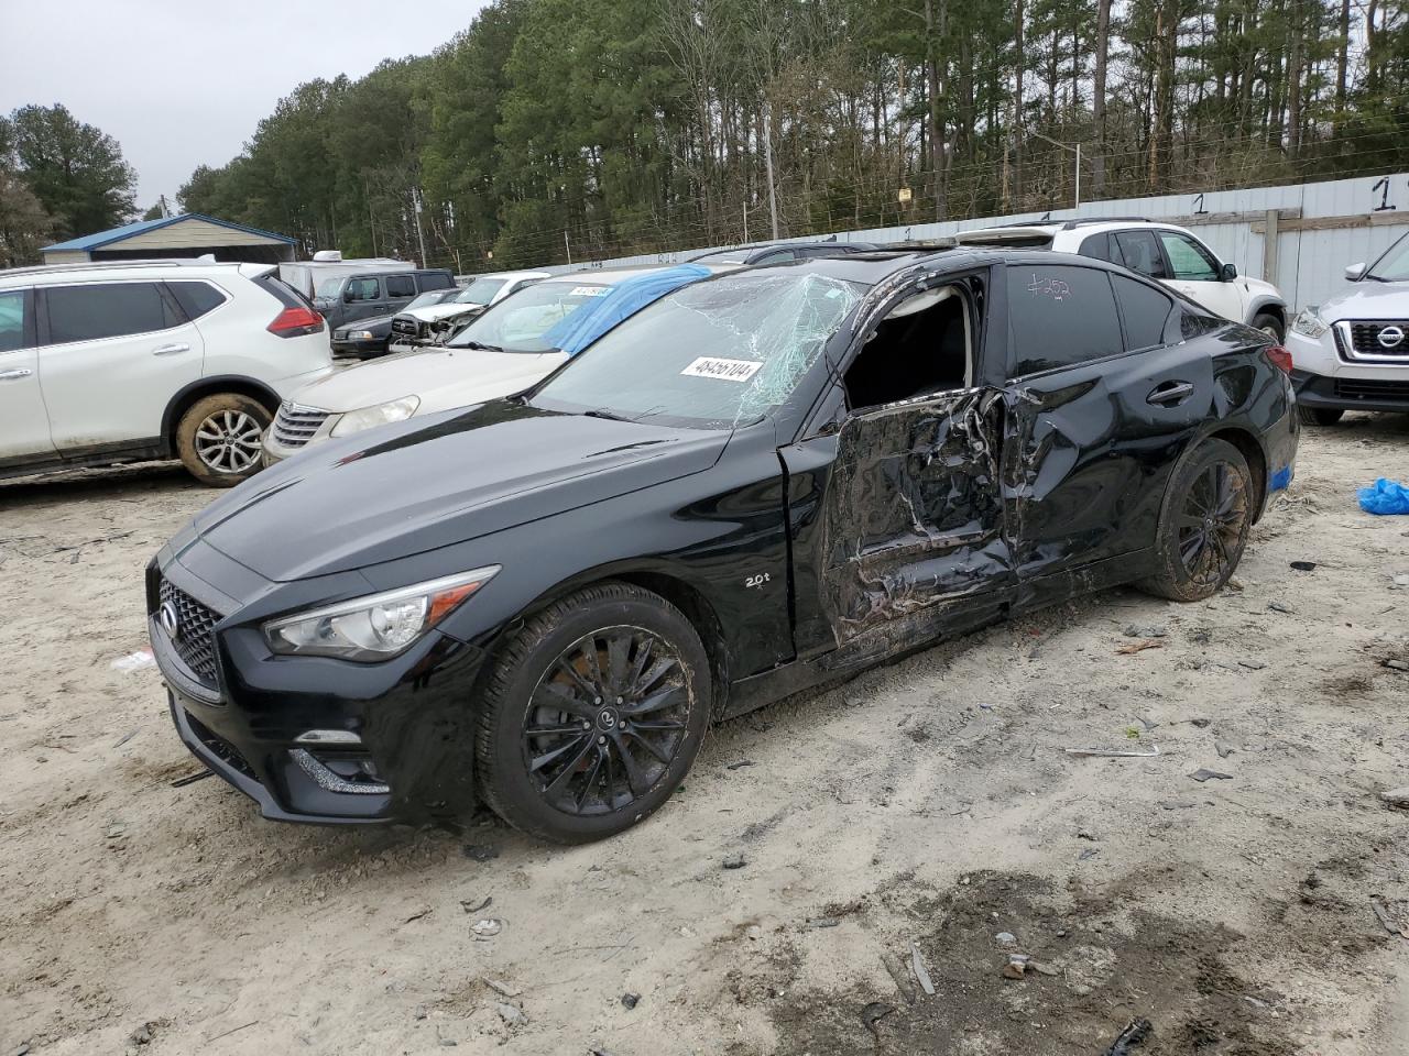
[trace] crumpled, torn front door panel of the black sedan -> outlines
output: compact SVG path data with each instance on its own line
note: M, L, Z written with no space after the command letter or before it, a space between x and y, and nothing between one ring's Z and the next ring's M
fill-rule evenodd
M1002 417L1002 393L969 389L845 420L817 555L836 645L872 631L896 649L923 643L974 615L955 607L1012 586Z

